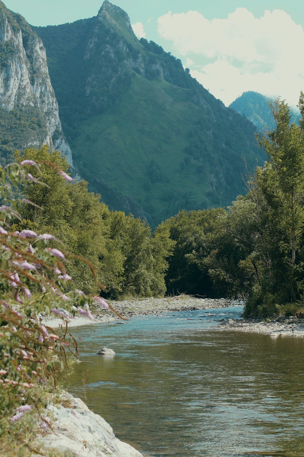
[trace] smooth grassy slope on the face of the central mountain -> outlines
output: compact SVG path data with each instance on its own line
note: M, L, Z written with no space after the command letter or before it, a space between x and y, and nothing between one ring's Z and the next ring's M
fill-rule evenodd
M182 173L180 169L188 133L199 114L199 108L184 97L183 89L135 74L119 106L80 125L81 133L72 143L80 172L87 179L100 175L158 221L177 212L176 203L184 204L189 195L194 205L201 206L208 183L190 168ZM161 168L156 182L149 175L152 159Z

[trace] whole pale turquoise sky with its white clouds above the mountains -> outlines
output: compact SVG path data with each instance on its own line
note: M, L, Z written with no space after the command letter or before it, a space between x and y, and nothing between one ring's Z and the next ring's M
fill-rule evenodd
M102 0L6 0L31 25L96 16ZM304 90L304 2L299 0L113 0L136 35L180 58L228 106L246 90L296 106Z

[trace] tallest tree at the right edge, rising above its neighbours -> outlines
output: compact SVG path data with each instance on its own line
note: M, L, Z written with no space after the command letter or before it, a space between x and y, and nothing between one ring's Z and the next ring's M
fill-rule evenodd
M257 169L256 182L265 202L268 215L276 218L278 238L277 250L287 271L283 282L289 289L289 301L299 298L297 288L297 251L302 244L304 228L304 95L301 92L299 108L302 115L299 125L290 123L288 105L279 99L270 104L276 130L257 136L265 150L268 162L263 169ZM265 212L265 211L264 211ZM286 297L288 299L288 297Z

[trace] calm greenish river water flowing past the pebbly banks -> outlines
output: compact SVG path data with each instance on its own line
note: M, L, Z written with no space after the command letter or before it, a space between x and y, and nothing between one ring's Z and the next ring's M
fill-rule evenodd
M304 339L215 329L241 312L72 329L82 362L67 388L147 456L304 456Z

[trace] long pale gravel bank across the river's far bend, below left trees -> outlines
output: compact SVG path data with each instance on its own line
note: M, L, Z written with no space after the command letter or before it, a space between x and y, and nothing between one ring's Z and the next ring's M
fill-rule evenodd
M110 302L111 306L124 319L129 319L138 315L158 314L173 311L193 311L195 309L211 309L211 308L227 308L229 306L239 305L242 302L230 300L228 298L195 298L187 295L179 295L177 297L168 298L144 298L131 299L123 301ZM123 322L116 314L102 308L95 303L91 308L94 316L94 321L84 316L69 316L68 326L79 327L82 325L91 325L103 322ZM44 316L43 323L52 328L58 328L63 324L63 321L51 316Z

